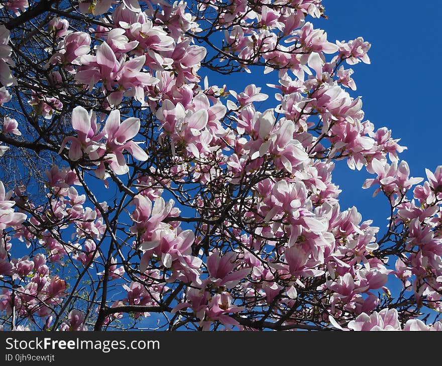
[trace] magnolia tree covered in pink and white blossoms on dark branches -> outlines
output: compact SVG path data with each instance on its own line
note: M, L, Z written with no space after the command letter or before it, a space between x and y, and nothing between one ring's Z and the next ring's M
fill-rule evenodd
M320 0L0 8L2 329L442 330L442 166L364 119L370 44ZM240 72L274 95L206 77ZM342 159L385 232L341 209Z

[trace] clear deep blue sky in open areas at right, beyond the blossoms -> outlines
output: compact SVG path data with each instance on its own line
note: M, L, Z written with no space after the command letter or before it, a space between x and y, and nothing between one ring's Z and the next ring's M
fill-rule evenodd
M362 96L365 119L376 128L387 127L393 138L401 138L399 144L408 149L400 154L410 166L410 176L425 177L425 167L434 171L442 164L439 156L439 136L442 134L440 115L437 113L437 70L441 51L438 14L430 3L386 2L382 0L323 0L328 19L312 19L316 28L327 32L330 42L349 41L363 37L371 43L371 64L349 66L357 90L347 89L353 97ZM434 2L433 2L434 4ZM420 17L424 15L424 20ZM201 75L205 75L200 70ZM425 76L425 75L428 76ZM275 89L265 83L277 83L275 72L262 75L259 70L252 74L219 76L208 72L209 84L228 89L243 90L247 84L262 86L269 99L257 109L271 108L278 104L273 95ZM261 107L261 108L260 108ZM368 177L365 169L350 170L345 160L336 164L334 182L340 186L341 209L356 206L363 220L372 219L374 225L384 229L389 216L387 199L378 195L372 198L375 188L363 190Z

